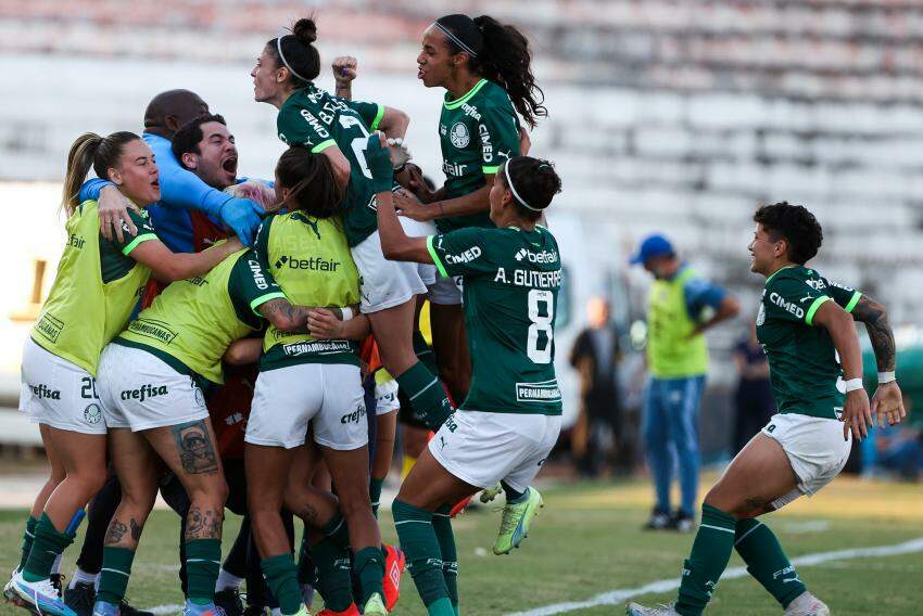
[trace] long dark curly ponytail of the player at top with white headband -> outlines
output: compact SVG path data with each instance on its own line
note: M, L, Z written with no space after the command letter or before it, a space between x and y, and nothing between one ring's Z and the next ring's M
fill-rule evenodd
M532 51L526 36L515 26L491 17L462 14L445 15L435 21L455 53L468 54L468 67L476 75L501 86L509 94L513 106L529 126L548 110L542 103L545 94L532 75Z

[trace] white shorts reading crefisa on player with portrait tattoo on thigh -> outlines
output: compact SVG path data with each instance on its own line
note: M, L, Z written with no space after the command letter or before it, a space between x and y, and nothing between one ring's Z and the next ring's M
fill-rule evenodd
M110 428L139 432L208 416L205 396L191 376L139 348L108 345L100 356L97 390Z

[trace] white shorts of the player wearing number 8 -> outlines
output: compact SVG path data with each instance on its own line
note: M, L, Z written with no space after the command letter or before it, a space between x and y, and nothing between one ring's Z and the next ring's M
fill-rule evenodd
M429 441L442 467L468 484L523 491L557 442L560 415L456 411Z

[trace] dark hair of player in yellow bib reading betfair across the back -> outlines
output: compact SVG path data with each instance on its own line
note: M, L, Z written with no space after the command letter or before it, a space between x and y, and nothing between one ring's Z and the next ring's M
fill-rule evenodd
M327 156L298 145L289 147L276 164L276 177L281 184L276 184L276 191L290 190L280 208L304 211L315 218L330 218L340 211L343 190Z

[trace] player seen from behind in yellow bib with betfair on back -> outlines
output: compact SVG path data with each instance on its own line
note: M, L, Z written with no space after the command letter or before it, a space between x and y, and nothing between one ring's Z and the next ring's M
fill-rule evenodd
M349 307L359 303L359 274L339 217L341 194L327 156L294 146L279 158L276 195L287 214L264 221L255 249L265 269L296 304ZM327 310L312 319L318 325L342 325L337 329L343 330L343 337L318 339L304 333L287 334L273 326L264 337L245 437L248 501L256 546L282 614L303 609L279 511L287 498L302 500L286 493L290 485L288 470L295 450L305 444L311 423L349 528L363 612L387 614L382 590L384 556L368 493L365 392L358 345L352 342L368 334L368 319L359 315L342 322ZM346 333L346 329L352 333ZM289 489L301 491L309 487ZM345 605L328 607L340 612L351 603L349 600Z

